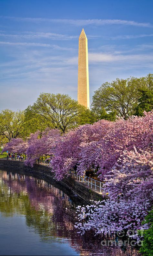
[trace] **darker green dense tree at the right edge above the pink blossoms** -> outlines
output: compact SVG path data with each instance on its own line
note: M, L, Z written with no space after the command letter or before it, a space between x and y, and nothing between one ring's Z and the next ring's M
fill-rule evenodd
M153 109L153 90L140 90L141 97L138 99L138 106L135 108L135 115L143 116L143 112Z

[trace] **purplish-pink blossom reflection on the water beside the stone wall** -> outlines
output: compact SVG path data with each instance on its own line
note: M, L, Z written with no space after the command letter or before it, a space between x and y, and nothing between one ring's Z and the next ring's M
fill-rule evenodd
M137 250L127 247L126 251L115 247L102 247L100 237L93 237L92 233L85 236L77 234L74 228L76 222L75 206L80 203L75 203L62 190L54 185L47 183L34 177L29 177L23 174L0 171L0 180L2 180L9 188L10 194L21 193L28 196L30 207L34 208L37 213L41 212L41 223L46 226L39 227L33 217L23 211L26 216L27 225L35 227L41 239L50 237L67 238L70 245L77 250L80 255L113 255L113 256L137 256L140 255ZM36 218L37 214L35 212ZM46 218L46 219L45 219ZM39 224L39 222L38 222Z

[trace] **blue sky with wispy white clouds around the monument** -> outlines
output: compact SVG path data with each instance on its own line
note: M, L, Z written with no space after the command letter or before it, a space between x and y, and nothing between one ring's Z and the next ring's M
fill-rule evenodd
M41 92L77 99L78 37L88 38L90 99L106 81L153 73L153 1L0 0L0 109Z

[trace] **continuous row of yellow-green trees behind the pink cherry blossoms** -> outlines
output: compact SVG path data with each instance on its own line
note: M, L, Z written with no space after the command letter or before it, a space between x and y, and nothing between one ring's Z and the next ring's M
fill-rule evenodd
M3 110L0 112L0 140L23 138L31 133L59 129L61 133L83 124L93 124L117 117L127 120L132 115L142 116L153 109L153 74L146 77L130 77L106 82L95 91L92 109L78 104L66 94L41 93L36 102L25 111Z

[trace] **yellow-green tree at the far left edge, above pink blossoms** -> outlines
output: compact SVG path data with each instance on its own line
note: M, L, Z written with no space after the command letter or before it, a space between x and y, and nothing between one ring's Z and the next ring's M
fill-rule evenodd
M9 109L0 112L0 137L2 141L8 142L13 138L22 137L24 112L14 112Z

